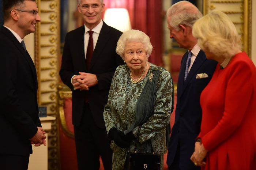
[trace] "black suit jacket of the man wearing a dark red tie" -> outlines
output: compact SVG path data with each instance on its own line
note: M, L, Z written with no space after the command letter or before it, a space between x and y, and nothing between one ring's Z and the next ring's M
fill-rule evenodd
M103 22L95 46L90 68L86 68L84 56L84 26L67 33L63 49L60 77L64 84L73 89L71 78L78 72L93 73L98 78L98 84L86 90L72 90L72 122L80 124L85 94L89 100L93 118L99 128L105 128L103 120L104 107L108 101L112 77L118 65L124 64L116 54L116 44L122 32Z

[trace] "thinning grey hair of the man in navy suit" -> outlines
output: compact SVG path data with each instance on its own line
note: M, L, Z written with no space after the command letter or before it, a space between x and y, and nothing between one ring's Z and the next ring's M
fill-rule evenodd
M197 7L189 1L180 1L173 4L166 12L166 15L167 22L176 31L180 30L180 24L193 27L196 20L203 16Z

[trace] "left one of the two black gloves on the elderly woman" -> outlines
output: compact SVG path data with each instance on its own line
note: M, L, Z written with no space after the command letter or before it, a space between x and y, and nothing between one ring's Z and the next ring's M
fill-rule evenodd
M124 133L118 131L117 128L111 128L108 137L109 139L114 140L114 143L121 148L127 148L129 146L129 142L123 140Z

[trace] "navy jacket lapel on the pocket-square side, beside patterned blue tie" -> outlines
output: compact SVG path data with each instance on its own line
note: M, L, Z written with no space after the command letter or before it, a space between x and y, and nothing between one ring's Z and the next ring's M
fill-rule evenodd
M200 52L197 54L196 59L188 73L187 79L184 82L184 85L182 86L182 93L188 86L188 83L192 80L192 78L195 78L195 74L197 73L197 70L201 67L201 65L204 63L206 60L206 57L204 55L204 52L200 50Z

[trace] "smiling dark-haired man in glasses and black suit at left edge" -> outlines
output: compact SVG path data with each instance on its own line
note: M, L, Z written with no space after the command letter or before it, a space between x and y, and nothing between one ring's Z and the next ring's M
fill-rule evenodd
M46 145L37 105L37 73L23 38L41 21L34 0L3 0L0 29L0 169L27 170L31 144Z

